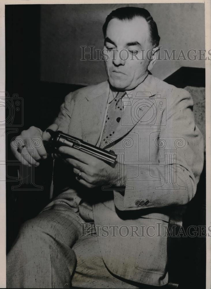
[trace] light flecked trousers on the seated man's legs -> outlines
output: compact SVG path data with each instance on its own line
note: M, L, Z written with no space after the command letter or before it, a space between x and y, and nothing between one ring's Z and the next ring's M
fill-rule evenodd
M108 271L94 232L84 236L90 208L79 214L61 200L22 225L7 255L7 288L139 288Z

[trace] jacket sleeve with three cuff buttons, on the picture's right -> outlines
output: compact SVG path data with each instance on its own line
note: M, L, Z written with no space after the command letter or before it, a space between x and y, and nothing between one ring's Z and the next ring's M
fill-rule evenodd
M204 148L194 121L193 100L186 90L175 90L166 108L166 125L161 126L154 145L158 156L155 164L149 164L147 170L146 166L139 166L144 181L130 180L136 175L134 166L125 166L125 192L114 191L119 210L181 205L193 198L203 168ZM153 181L147 181L149 175Z

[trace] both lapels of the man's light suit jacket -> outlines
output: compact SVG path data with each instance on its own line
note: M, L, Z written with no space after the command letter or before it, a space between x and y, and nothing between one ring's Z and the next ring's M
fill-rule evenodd
M100 91L99 91L100 90ZM81 103L82 118L82 138L84 141L97 144L101 134L106 104L109 95L109 83L104 82L97 92L87 95ZM148 75L146 79L139 84L130 95L122 98L124 110L122 110L121 121L119 122L112 139L118 142L127 134L136 123L144 118L148 118L151 102L150 97L156 95L156 78Z

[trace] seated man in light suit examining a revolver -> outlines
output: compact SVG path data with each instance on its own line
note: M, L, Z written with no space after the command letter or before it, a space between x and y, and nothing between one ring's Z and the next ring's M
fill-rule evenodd
M118 8L103 34L108 81L67 95L49 128L112 147L117 163L59 149L67 174L63 192L22 226L7 256L7 287L167 284L167 208L188 203L196 192L202 136L189 93L149 73L160 39L149 12ZM44 146L33 156L27 150L31 140L49 140L49 133L30 127L20 136L24 145L12 143L14 155L39 166L47 158ZM90 236L81 224L93 222Z

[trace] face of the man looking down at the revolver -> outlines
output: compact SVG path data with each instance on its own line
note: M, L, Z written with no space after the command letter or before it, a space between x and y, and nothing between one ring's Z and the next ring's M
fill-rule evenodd
M146 51L152 48L150 40L149 25L143 17L123 21L114 18L108 23L105 67L114 88L133 89L144 80L150 62L146 57Z

